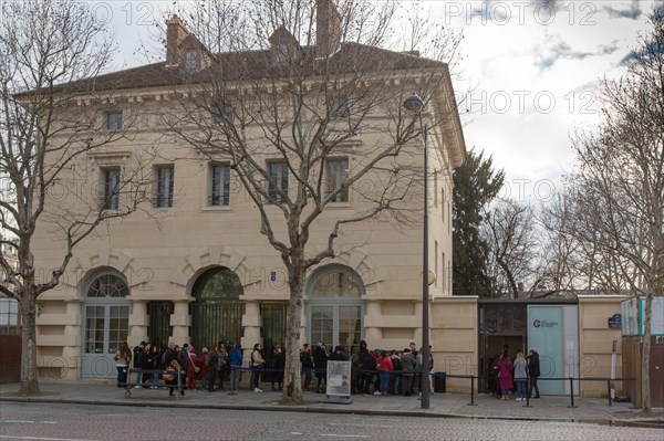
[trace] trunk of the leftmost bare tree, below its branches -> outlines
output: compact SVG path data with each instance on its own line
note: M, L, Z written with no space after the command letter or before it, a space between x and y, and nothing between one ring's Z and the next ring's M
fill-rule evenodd
M39 395L39 381L37 376L37 296L31 290L23 287L19 295L21 309L21 388L20 396Z

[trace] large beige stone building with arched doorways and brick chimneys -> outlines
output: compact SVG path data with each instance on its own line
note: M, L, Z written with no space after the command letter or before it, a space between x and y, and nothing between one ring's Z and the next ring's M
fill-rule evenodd
M392 98L373 108L371 124L353 128L353 136L321 165L322 185L335 196L311 227L311 250L326 245L338 220L367 209L367 193L383 180L381 169L339 191L349 170L364 167L376 146L391 141L395 124L391 112L398 113L403 98L425 83L435 84L426 91L430 99L421 116L424 124L436 122L425 126L432 189L427 246L435 274L430 296L450 295L452 172L463 164L466 148L447 66L413 53L342 43L333 3L318 4L315 48L300 46L280 28L270 38L270 48L239 54L210 54L174 15L167 24L165 62L95 78L94 97L72 103L75 111L103 108L105 129L126 128L126 134L83 155L72 168L66 189L54 192L52 208L66 210L85 195L103 210L117 210L125 196L115 189L146 157L152 195L141 211L104 223L81 242L62 284L40 297L37 324L42 377L113 377L112 358L124 340L129 345L148 340L159 347L187 342L198 349L218 342L241 343L245 348L262 343L268 353L272 345L283 344L288 275L280 254L260 233L257 200L234 171L230 158L193 148L166 122L178 115L180 106L198 108L197 103L205 101L191 92L193 83L185 80L191 75L185 74L204 72L210 63L259 66L238 70L230 78L238 92L263 81L266 72L280 69L281 60L293 53L307 56L313 51L312 60L323 54L344 75L357 71L350 62L357 56L386 60L382 70L366 67L362 86L366 91L381 87ZM349 57L351 53L354 59ZM260 71L256 77L242 76L242 72L256 71ZM315 72L310 77L315 84ZM268 83L264 90L270 90ZM326 96L324 106L334 118L332 124L347 127L349 103L336 101L340 96ZM206 117L211 125L225 124L225 118L239 113L238 107L237 103L217 103L216 112ZM402 120L417 124L409 116ZM186 135L197 128L185 124L181 129ZM248 134L253 139L263 136L256 125L249 126ZM409 154L400 156L395 167L422 170L422 143L423 137L407 143ZM149 156L142 156L146 153ZM292 169L269 148L260 155L252 159L267 164L269 196L293 191ZM334 259L308 273L301 343L351 348L366 339L372 348L401 349L422 342L422 185L408 188L398 203L402 216L394 219L402 222L375 217L344 227L335 241ZM283 222L278 204L260 204L274 220L276 234L286 234L277 223ZM39 267L52 267L61 259L62 244L51 232L45 224L34 238ZM434 339L435 356L436 346L444 345Z

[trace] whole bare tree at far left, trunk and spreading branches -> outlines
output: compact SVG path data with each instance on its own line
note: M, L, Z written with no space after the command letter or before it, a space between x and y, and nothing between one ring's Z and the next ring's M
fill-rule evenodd
M145 196L138 158L111 182L110 191L85 192L71 185L85 155L125 136L129 125L127 115L124 124L117 119L122 115L111 116L110 122L105 112L85 105L108 99L111 92L105 97L95 94L94 78L108 66L112 52L103 23L82 3L2 3L0 227L7 232L2 242L17 249L18 269L0 256L7 275L0 292L19 302L21 395L39 393L38 297L60 283L74 246L101 223L136 210ZM81 83L80 78L92 80ZM60 203L61 198L70 203ZM37 229L62 244L60 264L45 276L37 267L39 256L33 255Z

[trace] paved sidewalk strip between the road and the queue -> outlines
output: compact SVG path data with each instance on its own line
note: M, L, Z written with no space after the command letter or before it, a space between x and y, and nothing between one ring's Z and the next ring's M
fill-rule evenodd
M470 406L469 395L436 393L430 397L430 409L421 409L417 397L402 396L353 396L351 405L322 402L324 395L305 392L305 405L280 406L280 392L253 392L241 390L236 396L227 391L207 392L203 389L187 390L184 398L169 398L164 389L132 389L132 398L125 398L125 390L100 381L41 381L42 395L39 397L18 397L19 385L0 385L0 401L28 401L54 403L85 403L106 406L153 406L153 407L190 407L236 410L295 411L322 413L354 414L394 414L414 417L460 417L475 419L515 419L591 422L621 426L658 426L664 427L664 410L656 409L654 417L643 418L640 409L632 409L631 403L614 402L609 406L608 399L574 397L571 408L570 397L542 397L526 401L502 401L490 396L475 397ZM1 406L1 405L0 405ZM652 424L652 426L651 426Z

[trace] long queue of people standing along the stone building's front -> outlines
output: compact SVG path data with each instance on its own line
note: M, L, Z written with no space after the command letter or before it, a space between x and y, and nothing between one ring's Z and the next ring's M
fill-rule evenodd
M169 396L174 396L176 387L181 395L185 388L197 390L199 385L209 392L224 390L225 381L229 386L229 393L235 395L239 390L242 371L247 370L250 371L250 390L262 392L261 382L268 381L272 390L282 390L286 354L280 345L274 346L271 357L266 357L262 345L257 343L247 360L242 347L232 343L219 342L211 349L203 347L200 354L187 343L181 347L170 343L168 347L160 349L147 342L141 342L133 350L123 343L115 355L117 387L126 387L129 384L127 372L133 366L136 372L135 388L157 388L162 378L168 386ZM353 395L407 397L413 395L415 388L422 389L422 350L416 348L415 343L411 343L403 350L371 350L366 342L362 340L351 353L343 346L336 346L330 351L322 343L313 347L304 344L300 350L303 391L325 392L328 360L351 361ZM429 350L429 371L433 365Z

